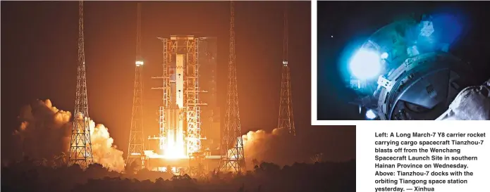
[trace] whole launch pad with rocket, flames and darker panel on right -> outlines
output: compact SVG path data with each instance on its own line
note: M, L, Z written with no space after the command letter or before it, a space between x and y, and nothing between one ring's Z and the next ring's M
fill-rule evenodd
M152 89L163 90L159 134L148 136L142 165L156 171L200 164L216 167L220 159L216 38L171 35L158 39L164 44L163 75L152 79L159 79L162 86ZM208 137L210 141L205 142Z

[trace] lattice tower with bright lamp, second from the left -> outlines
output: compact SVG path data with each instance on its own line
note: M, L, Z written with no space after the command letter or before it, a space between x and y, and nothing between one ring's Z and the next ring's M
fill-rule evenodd
M129 134L129 148L128 156L126 158L126 165L142 160L140 165L145 167L145 160L142 159L143 151L145 150L145 137L143 136L143 82L141 77L143 69L143 60L141 56L141 3L137 3L135 64L133 115L131 116L131 129Z

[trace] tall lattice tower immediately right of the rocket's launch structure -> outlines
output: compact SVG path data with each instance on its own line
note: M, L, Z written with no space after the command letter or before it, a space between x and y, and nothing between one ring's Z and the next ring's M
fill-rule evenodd
M230 4L230 58L228 63L228 99L226 100L225 129L221 139L220 172L241 172L245 170L245 155L240 129L240 113L238 109L238 87L235 63L235 7Z

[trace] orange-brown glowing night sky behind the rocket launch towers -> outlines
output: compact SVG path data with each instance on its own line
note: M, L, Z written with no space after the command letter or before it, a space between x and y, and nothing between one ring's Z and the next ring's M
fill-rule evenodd
M298 134L325 141L319 146L345 158L355 154L355 129L310 125L310 2L289 2L289 63ZM108 127L114 143L128 148L135 72L136 3L85 2L85 58L90 117ZM1 151L9 150L20 108L49 98L61 110L75 105L78 2L1 2ZM229 4L163 2L142 4L142 56L145 134L157 134L161 92L152 76L161 75L163 45L157 37L200 34L218 37L218 92L225 98L229 42ZM235 3L236 58L242 132L277 126L283 41L283 2ZM346 148L333 148L339 143ZM348 149L347 149L348 148ZM345 152L347 151L347 152ZM350 155L350 156L349 156ZM332 155L335 159L335 155Z

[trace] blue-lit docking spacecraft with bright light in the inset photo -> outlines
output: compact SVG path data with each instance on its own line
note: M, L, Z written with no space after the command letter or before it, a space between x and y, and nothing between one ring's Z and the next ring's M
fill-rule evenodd
M352 103L367 109L367 120L436 120L478 84L471 66L449 52L462 26L451 15L431 15L374 32L350 59L350 87L359 96Z

